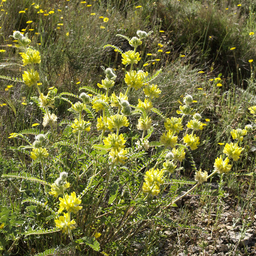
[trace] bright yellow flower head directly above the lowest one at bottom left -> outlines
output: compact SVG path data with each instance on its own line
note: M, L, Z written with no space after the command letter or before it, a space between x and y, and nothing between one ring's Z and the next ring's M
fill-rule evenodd
M73 212L74 214L76 214L79 210L83 208L83 206L79 206L82 200L79 199L79 197L76 197L75 192L72 192L70 196L66 194L65 196L63 196L63 198L59 197L59 201L60 209L58 213L66 210L68 212Z

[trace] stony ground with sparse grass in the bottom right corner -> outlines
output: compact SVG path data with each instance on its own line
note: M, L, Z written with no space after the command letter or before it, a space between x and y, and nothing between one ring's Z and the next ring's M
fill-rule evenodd
M238 194L223 187L221 197L183 198L170 210L170 218L181 219L182 227L164 231L166 241L158 255L256 255L255 195L249 182L244 183ZM218 184L209 186L214 195Z

